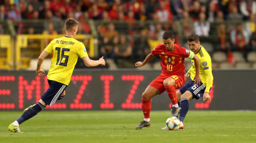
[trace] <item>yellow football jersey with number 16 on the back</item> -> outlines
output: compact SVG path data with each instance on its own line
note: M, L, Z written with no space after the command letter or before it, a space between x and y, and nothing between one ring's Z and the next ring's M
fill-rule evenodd
M78 55L80 58L88 56L82 42L67 36L53 39L45 51L53 53L47 78L65 85L69 85Z

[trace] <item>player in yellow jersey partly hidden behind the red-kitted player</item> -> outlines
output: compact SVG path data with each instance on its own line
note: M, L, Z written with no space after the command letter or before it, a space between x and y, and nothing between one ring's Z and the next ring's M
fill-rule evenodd
M187 37L187 44L190 50L199 58L201 82L200 84L194 85L195 68L194 61L192 60L192 67L185 74L185 78L187 79L190 76L192 81L183 85L183 87L176 92L177 100L180 101L180 129L184 129L183 120L188 112L189 101L194 98L199 99L200 97L203 97L204 101L211 101L209 91L213 85L211 57L204 47L201 46L199 36L196 34L189 35Z

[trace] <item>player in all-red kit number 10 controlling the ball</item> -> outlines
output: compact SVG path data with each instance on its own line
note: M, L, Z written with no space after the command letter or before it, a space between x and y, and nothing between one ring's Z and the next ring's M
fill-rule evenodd
M193 52L174 44L175 38L171 31L166 31L163 34L164 44L156 46L143 62L136 62L135 67L142 67L152 60L155 56L160 56L162 73L154 79L142 93L142 111L144 120L135 129L150 127L150 111L151 98L167 91L169 98L172 101L171 116L178 116L179 105L177 102L176 90L181 88L185 83L185 66L184 59L189 58L194 60L196 75L194 84L200 84L199 75L199 58Z

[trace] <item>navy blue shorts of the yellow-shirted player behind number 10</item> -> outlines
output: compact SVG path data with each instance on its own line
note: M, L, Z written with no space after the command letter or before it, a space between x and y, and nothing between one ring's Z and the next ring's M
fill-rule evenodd
M194 85L194 81L190 81L183 85L182 88L180 88L181 94L183 94L185 91L190 91L193 95L192 99L199 99L200 97L204 96L204 91L206 89L206 86L204 83L200 81L200 85ZM211 90L211 88L210 88Z

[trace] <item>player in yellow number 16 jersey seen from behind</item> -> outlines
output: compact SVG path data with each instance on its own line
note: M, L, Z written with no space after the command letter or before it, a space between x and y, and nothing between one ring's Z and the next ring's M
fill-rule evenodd
M45 109L45 106L52 106L57 100L62 99L65 96L65 89L67 85L69 85L78 56L83 59L83 62L88 67L105 65L103 57L99 60L91 60L88 57L83 43L74 39L78 29L78 23L79 22L75 19L68 18L64 25L66 35L52 40L38 57L36 75L42 77L45 74L45 71L41 69L43 60L47 55L53 53L51 67L47 75L50 87L42 95L37 104L26 108L21 117L9 125L8 129L10 131L21 132L19 130L19 125L21 123Z

